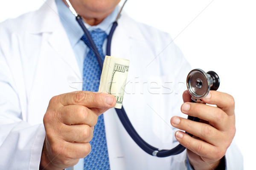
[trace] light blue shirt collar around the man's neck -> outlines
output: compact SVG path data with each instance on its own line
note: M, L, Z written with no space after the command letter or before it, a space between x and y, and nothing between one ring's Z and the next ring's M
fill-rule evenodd
M67 37L70 40L70 44L72 45L72 47L74 47L76 43L79 42L81 37L84 35L84 31L81 29L81 27L76 21L75 16L66 6L66 4L62 0L55 0L55 2L58 8L58 14L61 19L61 23L67 33ZM113 12L96 26L90 26L89 24L85 23L86 28L88 29L88 31L93 31L99 28L102 31L105 31L107 34L109 34L112 27L112 23L116 20L118 9L119 8L116 6Z

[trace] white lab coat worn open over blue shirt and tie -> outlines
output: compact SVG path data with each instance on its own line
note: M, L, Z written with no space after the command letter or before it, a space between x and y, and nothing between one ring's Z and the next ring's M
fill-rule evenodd
M180 50L168 34L123 14L111 54L131 61L123 106L137 132L155 147L176 146L170 118L181 115L181 96L190 70ZM54 0L38 11L1 23L1 170L38 169L49 99L81 90L81 82ZM150 156L131 139L113 109L104 113L104 120L111 170L186 169L186 151L167 158ZM241 169L236 146L230 147L226 159L228 169Z

